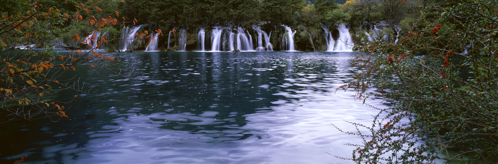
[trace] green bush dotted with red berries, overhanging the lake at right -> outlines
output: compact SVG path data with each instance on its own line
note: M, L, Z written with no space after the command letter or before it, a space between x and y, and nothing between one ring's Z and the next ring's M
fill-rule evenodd
M368 68L360 98L382 96L380 110L353 160L368 164L498 161L498 0L435 4L397 44L357 46L353 65ZM367 87L376 93L367 93ZM438 163L439 163L438 162Z

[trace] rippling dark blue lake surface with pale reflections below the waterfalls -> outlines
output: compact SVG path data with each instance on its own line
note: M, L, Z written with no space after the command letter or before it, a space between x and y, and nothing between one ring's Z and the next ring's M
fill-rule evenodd
M134 79L104 70L70 120L13 121L1 129L1 160L26 164L336 164L360 142L342 120L371 124L377 111L334 93L361 70L351 52L109 53ZM73 93L74 94L74 93ZM70 98L72 95L66 95ZM380 106L375 101L369 102ZM8 141L8 142L5 142Z

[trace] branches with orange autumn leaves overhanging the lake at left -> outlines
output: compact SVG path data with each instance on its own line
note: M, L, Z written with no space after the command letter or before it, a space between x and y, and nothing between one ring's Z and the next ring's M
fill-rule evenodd
M4 1L2 0L2 5ZM79 12L90 13L84 4L77 4L74 14L60 13L60 10L51 7L50 1L6 0L6 7L1 10L0 21L0 101L1 121L6 122L15 117L26 120L49 118L58 121L69 117L67 108L63 104L71 102L59 100L58 92L73 90L81 93L90 93L92 85L82 84L77 78L68 78L66 74L72 71L88 68L107 69L120 74L122 68L113 57L102 55L93 49L75 49L70 52L55 51L44 43L56 37L69 37L72 42L90 44L94 42L99 48L108 39L105 36L92 38L82 37L79 34L65 36L61 25L69 20L84 21L94 31L106 25L116 25L119 21L126 22L124 18L118 20L113 16L96 17L87 15L83 17ZM102 9L96 8L97 12ZM118 17L119 13L115 12ZM159 31L160 32L160 31ZM150 35L137 33L142 38ZM25 49L15 50L9 46L23 37L23 44L29 45ZM88 42L88 43L87 43ZM37 47L35 49L35 47ZM93 47L93 46L91 46ZM112 68L111 65L115 67ZM131 73L131 72L130 72ZM122 75L122 76L129 76ZM74 96L78 98L78 96ZM67 99L67 98L64 98Z

